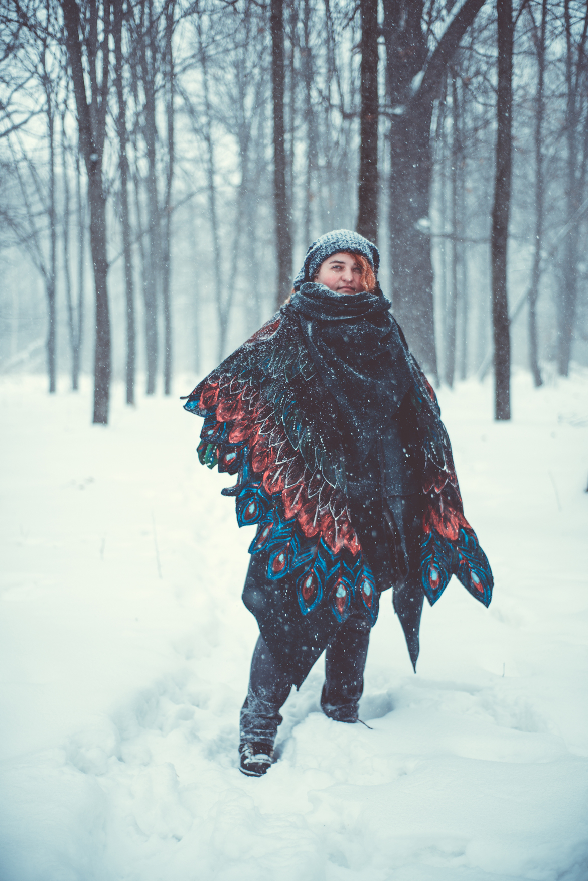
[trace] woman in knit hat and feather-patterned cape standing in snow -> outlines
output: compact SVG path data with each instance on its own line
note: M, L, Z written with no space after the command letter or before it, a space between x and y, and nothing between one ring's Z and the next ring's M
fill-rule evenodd
M358 233L314 242L290 300L199 383L200 462L238 474L223 490L257 523L243 602L257 618L241 712L241 770L260 776L292 685L326 649L321 707L358 722L379 596L416 670L423 596L451 574L488 606L488 559L465 520L435 393L377 284Z

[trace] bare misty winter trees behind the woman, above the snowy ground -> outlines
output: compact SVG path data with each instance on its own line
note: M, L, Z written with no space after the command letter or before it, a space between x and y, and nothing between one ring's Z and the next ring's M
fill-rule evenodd
M169 394L357 228L435 381L588 334L584 3L4 4L1 369ZM140 377L140 378L139 378Z

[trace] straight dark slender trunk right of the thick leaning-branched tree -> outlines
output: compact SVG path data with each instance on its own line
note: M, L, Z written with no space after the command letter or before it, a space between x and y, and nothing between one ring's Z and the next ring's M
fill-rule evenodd
M512 159L512 0L497 0L498 96L496 100L495 196L492 210L492 326L495 418L510 419L510 321L507 295Z

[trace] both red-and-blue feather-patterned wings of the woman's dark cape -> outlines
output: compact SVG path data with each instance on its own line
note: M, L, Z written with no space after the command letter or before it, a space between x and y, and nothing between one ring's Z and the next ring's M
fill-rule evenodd
M409 395L427 495L422 588L435 603L456 574L488 605L492 573L465 520L435 392L402 339L413 375ZM184 406L205 418L200 462L238 475L234 487L222 492L235 497L240 526L257 523L249 552L269 552L268 577L294 574L303 615L329 603L339 622L361 610L375 623L378 591L347 507L340 441L345 426L294 309L282 307L197 385Z

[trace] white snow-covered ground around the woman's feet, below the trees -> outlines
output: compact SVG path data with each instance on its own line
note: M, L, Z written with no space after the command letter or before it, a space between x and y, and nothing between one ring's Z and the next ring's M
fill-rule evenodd
M442 391L493 603L453 581L414 676L384 595L372 730L320 713L319 662L259 780L236 752L251 536L200 420L117 388L93 427L87 384L44 384L0 385L2 881L588 877L588 374L517 375L510 424L489 383Z

